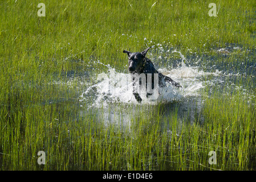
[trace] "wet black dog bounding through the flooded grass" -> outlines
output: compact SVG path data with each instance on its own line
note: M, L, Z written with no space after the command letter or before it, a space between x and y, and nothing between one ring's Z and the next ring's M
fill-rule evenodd
M151 47L145 49L145 51L142 52L129 52L124 50L124 53L127 53L128 57L129 57L129 72L132 73L133 75L135 75L135 73L137 73L138 75L140 75L141 73L144 73L145 76L148 79L147 74L151 73L151 77L152 80L154 81L154 73L157 73L159 75L159 86L160 87L164 87L166 86L165 81L170 82L172 85L176 86L176 87L181 87L180 84L178 84L177 82L173 81L172 78L162 75L162 73L158 72L154 66L154 64L151 62L151 60L149 60L146 56L148 49L150 49ZM139 93L135 92L135 77L133 77L133 95L135 96L136 100L138 102L141 102L142 99L139 95ZM152 81L152 89L154 89L154 82ZM147 80L148 82L148 80ZM147 82L146 82L146 86L147 86ZM140 82L141 84L141 82ZM147 87L146 87L147 88ZM147 93L147 97L152 95L152 93Z

